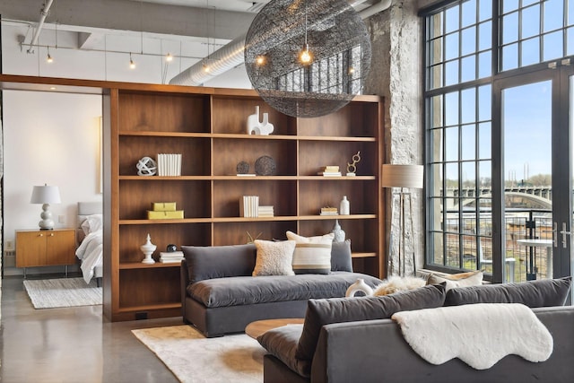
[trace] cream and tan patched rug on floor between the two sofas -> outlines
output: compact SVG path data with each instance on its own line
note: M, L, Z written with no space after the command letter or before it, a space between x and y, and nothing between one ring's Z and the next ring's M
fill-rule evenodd
M183 383L260 383L265 349L248 335L205 338L191 326L132 330Z

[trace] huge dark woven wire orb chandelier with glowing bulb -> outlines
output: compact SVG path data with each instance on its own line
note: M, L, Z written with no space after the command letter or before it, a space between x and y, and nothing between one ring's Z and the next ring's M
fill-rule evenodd
M370 55L367 27L345 0L272 0L245 41L253 87L297 118L325 116L360 94Z

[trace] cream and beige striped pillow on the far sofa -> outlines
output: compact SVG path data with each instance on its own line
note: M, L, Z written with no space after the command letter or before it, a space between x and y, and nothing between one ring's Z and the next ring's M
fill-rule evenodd
M287 239L295 241L293 271L295 274L329 274L331 272L331 246L335 234L301 237L287 231Z

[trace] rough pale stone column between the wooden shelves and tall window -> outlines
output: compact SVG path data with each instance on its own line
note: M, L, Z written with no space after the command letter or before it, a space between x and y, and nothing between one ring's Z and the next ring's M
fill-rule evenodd
M423 164L424 126L422 118L422 22L417 16L418 4L413 1L394 1L387 11L372 16L368 21L373 59L370 79L365 94L385 98L385 158L383 163ZM398 189L393 189L398 191ZM413 234L405 240L405 274L413 273L413 254L416 267L424 265L424 198L421 190L413 192ZM387 243L392 266L390 274L398 273L398 245L400 237L400 207L398 197L386 190ZM410 222L406 205L405 222ZM408 233L408 230L407 230ZM387 262L387 266L389 263ZM386 267L387 268L387 267Z

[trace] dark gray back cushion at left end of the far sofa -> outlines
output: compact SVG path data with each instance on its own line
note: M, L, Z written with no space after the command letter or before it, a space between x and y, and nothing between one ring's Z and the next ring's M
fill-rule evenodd
M256 247L230 246L182 246L186 258L189 282L228 276L248 276L255 267Z

